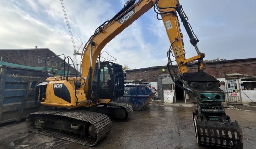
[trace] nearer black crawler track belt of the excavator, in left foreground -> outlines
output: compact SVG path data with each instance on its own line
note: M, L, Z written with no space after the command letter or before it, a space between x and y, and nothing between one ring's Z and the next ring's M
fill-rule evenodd
M97 136L96 137L88 137L80 134L75 134L72 132L65 132L57 129L38 129L35 127L35 117L36 116L60 116L65 119L75 119L78 121L83 121L85 123L90 123L96 129ZM109 117L105 114L84 111L84 110L74 110L74 109L56 109L56 110L46 110L39 111L35 113L31 113L27 116L27 128L35 133L39 133L42 135L46 135L49 137L54 137L62 140L66 140L69 142L86 145L86 146L94 146L100 140L107 136L107 134L112 129L112 123Z

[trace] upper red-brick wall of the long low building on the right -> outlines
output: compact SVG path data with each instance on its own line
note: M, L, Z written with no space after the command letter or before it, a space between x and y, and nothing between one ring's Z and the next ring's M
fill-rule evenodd
M215 78L225 78L225 74L229 73L243 74L240 77L256 76L256 58L208 62L204 64L204 71ZM161 71L162 68L165 69L165 72ZM176 65L175 70L179 72ZM196 71L197 66L188 67L188 72ZM156 82L158 75L163 74L169 74L166 66L126 70L127 80L145 79L149 82Z

